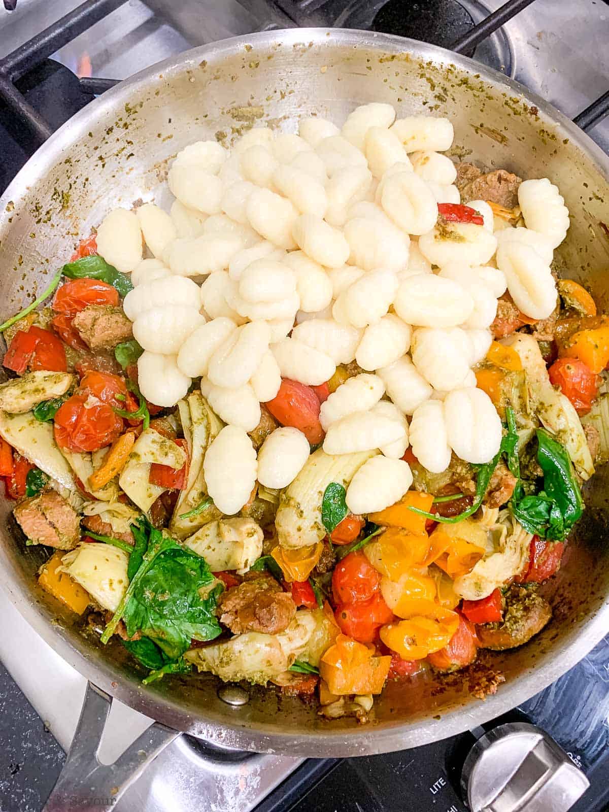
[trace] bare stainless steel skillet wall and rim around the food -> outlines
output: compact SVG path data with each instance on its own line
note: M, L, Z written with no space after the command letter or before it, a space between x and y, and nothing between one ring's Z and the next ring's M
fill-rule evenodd
M469 59L430 45L369 32L300 29L224 41L144 71L71 119L19 173L0 199L0 318L41 291L51 274L115 205L166 202L167 162L192 141L230 145L253 123L288 132L317 113L341 123L353 107L391 102L398 114L447 115L454 153L522 177L548 176L571 212L559 248L563 274L609 307L607 157L541 99ZM2 583L29 622L96 685L149 716L219 745L309 756L358 755L441 739L507 711L581 659L606 631L609 615L607 473L587 491L588 509L556 579L555 618L528 646L485 658L449 680L390 685L374 721L327 723L296 699L255 689L247 706L216 695L215 678L174 677L148 689L122 646L106 650L52 598L34 575L46 555L26 547L0 501ZM502 672L485 702L469 690ZM42 675L41 675L42 676Z

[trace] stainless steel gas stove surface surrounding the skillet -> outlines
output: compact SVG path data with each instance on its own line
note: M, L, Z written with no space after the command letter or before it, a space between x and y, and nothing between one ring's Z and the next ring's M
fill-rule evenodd
M4 0L4 5L13 7L15 0ZM294 26L367 28L459 50L525 84L568 116L577 116L577 122L609 152L609 120L603 120L609 107L609 7L604 0L510 0L506 4L501 0L87 0L80 5L76 0L17 0L14 11L0 10L0 193L54 128L117 80L196 45ZM0 616L2 663L67 749L86 681L37 637L2 593ZM102 740L102 761L112 762L149 722L114 702ZM466 808L460 786L463 767L470 783L480 772L476 773L471 759L467 762L476 741L477 757L496 762L503 759L494 755L501 745L499 733L508 730L522 741L528 736L536 753L545 747L551 757L552 745L534 739L538 734L522 727L529 723L549 733L563 748L561 769L574 765L568 784L583 790L584 776L590 780L590 788L571 808L577 812L606 809L609 636L550 688L484 729L395 754L319 761L221 750L181 736L113 808L118 812L169 812L196 806L212 812L460 812ZM501 728L503 724L512 727ZM0 787L4 809L2 792Z

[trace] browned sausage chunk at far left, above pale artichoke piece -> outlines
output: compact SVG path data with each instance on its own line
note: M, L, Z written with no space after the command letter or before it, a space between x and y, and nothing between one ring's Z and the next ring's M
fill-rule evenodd
M34 544L73 550L80 539L80 516L54 490L19 502L15 519Z

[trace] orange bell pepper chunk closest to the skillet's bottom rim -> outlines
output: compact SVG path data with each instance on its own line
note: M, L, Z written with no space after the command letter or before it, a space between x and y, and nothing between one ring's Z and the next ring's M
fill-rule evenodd
M329 693L381 693L391 657L377 657L374 650L352 637L339 634L333 646L323 654L319 674L326 680Z

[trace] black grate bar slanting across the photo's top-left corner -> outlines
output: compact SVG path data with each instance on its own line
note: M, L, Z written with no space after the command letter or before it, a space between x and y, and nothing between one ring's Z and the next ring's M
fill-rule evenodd
M87 28L123 6L127 0L86 0L56 23L45 28L37 37L19 45L19 48L0 59L0 73L15 82L32 67L39 65L63 45L67 45Z

